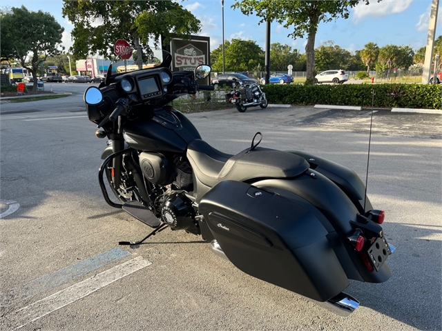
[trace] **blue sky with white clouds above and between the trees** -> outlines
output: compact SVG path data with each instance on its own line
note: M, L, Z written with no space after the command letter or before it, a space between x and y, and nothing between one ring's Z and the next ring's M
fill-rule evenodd
M235 1L224 0L224 40L240 38L256 41L265 48L265 23L255 15L245 16L240 10L233 10ZM182 6L200 19L202 29L199 35L211 37L211 50L222 43L222 5L221 0L184 0ZM430 8L432 0L382 0L371 1L369 6L359 3L350 10L349 19L337 19L320 23L316 34L315 47L334 41L341 48L354 52L361 50L366 43L374 42L379 47L390 43L398 46L411 46L417 50L426 45ZM64 27L63 46L66 50L73 45L70 31L73 24L61 15L61 0L0 0L1 7L25 6L28 10L43 10ZM285 43L305 52L307 39L287 37L291 32L278 23L271 24L271 43ZM442 3L439 6L436 38L442 34Z

